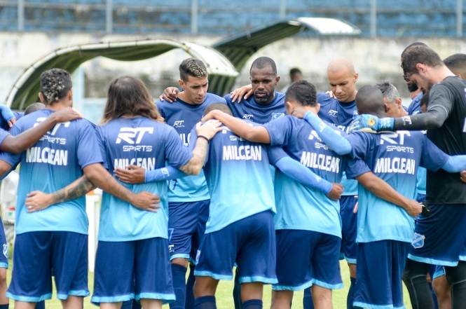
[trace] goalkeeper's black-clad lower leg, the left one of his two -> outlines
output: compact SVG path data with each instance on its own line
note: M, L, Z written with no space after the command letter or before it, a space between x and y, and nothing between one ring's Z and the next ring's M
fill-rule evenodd
M403 282L409 292L413 309L434 309L434 300L427 284L429 265L407 259Z

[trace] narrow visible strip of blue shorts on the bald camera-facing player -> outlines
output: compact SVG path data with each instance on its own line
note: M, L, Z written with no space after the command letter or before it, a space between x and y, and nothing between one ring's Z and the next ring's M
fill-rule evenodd
M357 214L353 212L357 198L343 195L340 199L341 249L340 252L348 263L356 263L357 257Z

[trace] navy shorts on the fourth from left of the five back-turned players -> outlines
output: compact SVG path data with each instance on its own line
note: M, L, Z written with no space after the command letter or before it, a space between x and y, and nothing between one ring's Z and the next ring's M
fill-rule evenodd
M300 291L313 284L341 289L341 239L303 230L277 230L277 277L275 291Z

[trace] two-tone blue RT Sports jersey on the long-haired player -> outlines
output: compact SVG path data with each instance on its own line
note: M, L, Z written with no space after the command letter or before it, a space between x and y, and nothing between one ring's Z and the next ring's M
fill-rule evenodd
M104 167L114 169L128 164L155 170L167 161L173 167L181 167L192 157L181 143L177 132L165 123L146 117L118 118L97 127ZM157 212L139 210L107 193L102 195L99 240L130 241L147 238L167 238L168 204L167 182L125 184L135 193L149 191L160 196Z

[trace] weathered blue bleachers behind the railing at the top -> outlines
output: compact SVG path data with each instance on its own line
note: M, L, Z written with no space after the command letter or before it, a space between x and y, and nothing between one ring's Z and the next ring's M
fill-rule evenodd
M172 35L193 31L191 0L111 2L114 34ZM359 27L362 36L370 36L371 2L287 0L285 17L339 18ZM456 36L456 0L376 3L377 36ZM198 34L226 36L279 19L282 1L198 0L197 4ZM104 33L106 10L107 0L24 0L24 30ZM15 30L18 30L18 0L0 1L0 31Z

